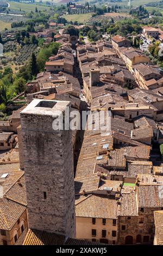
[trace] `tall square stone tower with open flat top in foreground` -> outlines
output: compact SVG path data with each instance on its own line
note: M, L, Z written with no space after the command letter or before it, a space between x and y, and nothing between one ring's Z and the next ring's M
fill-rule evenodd
M54 130L70 102L34 99L21 112L29 228L76 234L71 130Z

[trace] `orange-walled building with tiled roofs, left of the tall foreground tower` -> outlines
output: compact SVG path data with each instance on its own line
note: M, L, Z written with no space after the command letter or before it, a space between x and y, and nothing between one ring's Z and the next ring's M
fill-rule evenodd
M1 163L0 245L21 245L28 229L24 172L15 168L16 163Z

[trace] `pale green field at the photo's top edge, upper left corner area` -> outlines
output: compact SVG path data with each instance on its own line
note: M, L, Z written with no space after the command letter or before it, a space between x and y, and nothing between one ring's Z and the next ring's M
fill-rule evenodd
M22 11L26 11L26 13L30 13L30 11L35 11L35 8L37 7L37 10L48 10L50 7L45 7L37 4L26 4L26 3L17 3L17 2L9 2L10 3L10 9L19 11L20 9Z

